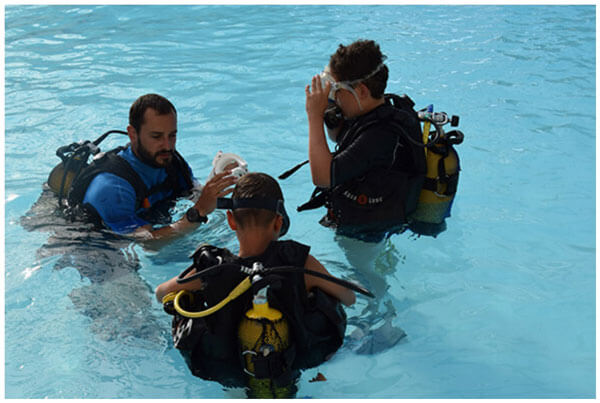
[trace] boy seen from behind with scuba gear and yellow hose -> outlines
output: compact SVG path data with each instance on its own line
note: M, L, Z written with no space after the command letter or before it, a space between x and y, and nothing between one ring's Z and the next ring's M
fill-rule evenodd
M332 277L309 246L278 240L289 218L269 175L246 174L217 208L228 210L239 252L202 245L189 268L157 287L174 315L174 345L195 376L246 387L249 397L293 397L299 370L342 345L341 304L355 302L353 291L372 294Z

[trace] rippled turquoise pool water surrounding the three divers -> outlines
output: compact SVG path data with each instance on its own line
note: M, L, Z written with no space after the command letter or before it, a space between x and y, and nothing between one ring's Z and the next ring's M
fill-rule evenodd
M460 115L463 170L446 232L396 235L375 252L320 227L322 211L295 212L312 191L306 167L282 182L288 237L379 296L359 297L347 310L351 322L377 329L379 315L407 335L364 354L366 339L349 326L334 359L304 372L297 396L594 397L595 13L7 6L6 397L235 395L189 374L152 296L197 243L235 249L221 213L152 253L85 237L53 217L48 201L30 209L58 162L56 148L124 129L130 104L147 92L177 107L177 147L198 178L218 150L278 175L307 155L304 86L339 43L358 38L387 54L389 92ZM309 382L317 372L327 381Z

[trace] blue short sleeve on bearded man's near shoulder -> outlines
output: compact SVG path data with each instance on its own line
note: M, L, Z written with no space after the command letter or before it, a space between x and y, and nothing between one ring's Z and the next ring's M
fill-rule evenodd
M83 199L100 215L114 232L127 234L148 222L136 215L135 190L125 179L111 174L98 174L90 183Z

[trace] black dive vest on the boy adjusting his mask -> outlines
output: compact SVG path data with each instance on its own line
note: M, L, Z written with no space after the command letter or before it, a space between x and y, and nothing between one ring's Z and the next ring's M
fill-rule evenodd
M385 101L371 113L344 123L348 127L338 139L334 158L369 128L385 124L389 135L397 136L399 142L393 163L331 189L315 189L311 200L298 211L325 205L328 213L322 224L333 225L349 236L399 231L406 225L427 170L421 125L410 98L386 94Z

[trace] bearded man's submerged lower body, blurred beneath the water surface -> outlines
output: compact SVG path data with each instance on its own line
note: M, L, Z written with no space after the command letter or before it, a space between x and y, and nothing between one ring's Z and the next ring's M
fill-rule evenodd
M58 256L55 270L72 267L89 280L71 290L69 297L91 319L90 330L97 337L121 342L137 338L165 345L169 332L153 312L152 287L138 273L140 260L130 240L67 219L47 188L21 217L21 225L27 231L50 233L36 252L38 261Z

